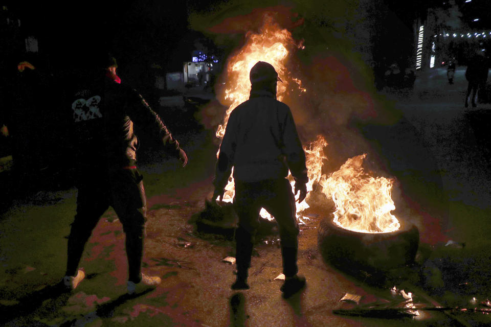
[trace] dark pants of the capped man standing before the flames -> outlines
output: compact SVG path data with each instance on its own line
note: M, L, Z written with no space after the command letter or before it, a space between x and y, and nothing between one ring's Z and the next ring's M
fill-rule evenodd
M265 208L278 223L283 258L283 273L292 277L298 272L298 224L295 197L286 179L257 182L235 181L234 208L239 217L235 232L237 276L247 278L251 265L254 237L259 226L259 212Z

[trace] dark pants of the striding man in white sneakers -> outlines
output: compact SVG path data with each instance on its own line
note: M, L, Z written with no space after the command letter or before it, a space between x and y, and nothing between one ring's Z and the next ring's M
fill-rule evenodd
M85 243L99 218L112 206L126 234L128 280L140 282L145 234L146 198L137 169L122 169L106 176L86 175L78 185L77 214L68 239L66 275L75 275Z

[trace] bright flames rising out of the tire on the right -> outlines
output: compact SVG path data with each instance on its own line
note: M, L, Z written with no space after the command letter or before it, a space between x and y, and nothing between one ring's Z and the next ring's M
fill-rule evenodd
M364 172L366 154L352 157L328 178L322 176L322 192L336 204L334 223L359 232L391 232L399 229L390 197L393 180Z

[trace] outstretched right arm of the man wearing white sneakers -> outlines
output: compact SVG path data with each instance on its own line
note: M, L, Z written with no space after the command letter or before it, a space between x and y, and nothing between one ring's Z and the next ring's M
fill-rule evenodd
M136 90L132 90L130 95L130 118L137 125L146 128L146 131L162 140L165 149L183 161L183 167L186 166L188 158L179 143L172 137L172 134L164 125L162 119L153 111L143 97Z

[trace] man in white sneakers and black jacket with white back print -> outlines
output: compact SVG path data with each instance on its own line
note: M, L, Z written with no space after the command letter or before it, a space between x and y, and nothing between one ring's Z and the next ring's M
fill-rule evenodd
M161 139L169 153L187 164L186 153L147 102L121 84L116 60L106 69L77 78L70 99L73 113L77 214L68 239L65 286L75 289L85 276L78 268L83 248L101 215L112 206L126 234L128 294L155 287L161 279L141 272L146 199L142 175L136 166L137 136L133 122ZM102 67L102 65L101 65ZM77 269L78 268L78 269Z

